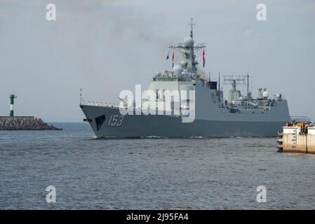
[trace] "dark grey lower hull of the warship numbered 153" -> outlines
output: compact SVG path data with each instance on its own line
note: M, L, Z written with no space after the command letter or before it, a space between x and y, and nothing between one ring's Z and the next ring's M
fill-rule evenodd
M126 115L112 126L112 117L121 116L119 108L80 106L97 138L194 138L194 137L276 137L288 118L279 120L203 120L182 123L180 116ZM98 119L102 117L102 120ZM235 118L234 118L235 119Z

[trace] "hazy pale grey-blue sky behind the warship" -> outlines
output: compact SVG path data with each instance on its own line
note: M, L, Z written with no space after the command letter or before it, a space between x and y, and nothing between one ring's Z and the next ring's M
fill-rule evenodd
M46 20L55 3L57 20ZM267 21L256 20L257 3ZM281 92L291 115L315 120L315 1L0 0L0 115L79 121L87 101L117 102L170 69L170 43L206 43L206 72L253 75L253 95ZM172 51L170 51L172 52ZM201 56L199 56L201 62ZM227 93L227 92L226 92Z

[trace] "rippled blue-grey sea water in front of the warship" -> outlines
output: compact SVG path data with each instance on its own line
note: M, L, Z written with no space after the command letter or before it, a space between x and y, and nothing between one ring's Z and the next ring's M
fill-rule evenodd
M54 125L0 131L0 209L315 208L315 155L277 153L275 138L95 139L86 123Z

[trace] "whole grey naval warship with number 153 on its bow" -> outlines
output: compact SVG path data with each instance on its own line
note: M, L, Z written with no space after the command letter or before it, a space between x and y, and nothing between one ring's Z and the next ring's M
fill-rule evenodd
M119 97L119 104L84 102L81 96L79 106L86 116L84 121L90 123L97 138L276 137L282 130L290 114L281 94L269 97L267 89L260 87L254 98L248 73L219 74L217 81L210 75L205 77L196 54L201 55L206 45L194 43L193 25L191 22L190 35L183 43L169 46L180 53L180 63L170 71L155 73L149 80L147 90L153 96L147 94L140 104L139 99L128 99L127 94ZM227 99L222 85L232 86ZM246 92L242 94L239 85L245 85ZM160 106L166 102L163 92L174 91L179 94L170 96L170 106ZM189 120L189 116L193 119Z

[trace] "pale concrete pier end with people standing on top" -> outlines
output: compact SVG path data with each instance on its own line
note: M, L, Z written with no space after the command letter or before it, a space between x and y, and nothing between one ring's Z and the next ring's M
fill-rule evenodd
M307 134L300 134L300 127L283 127L277 148L279 152L315 154L315 127L308 127Z

